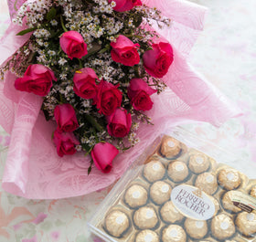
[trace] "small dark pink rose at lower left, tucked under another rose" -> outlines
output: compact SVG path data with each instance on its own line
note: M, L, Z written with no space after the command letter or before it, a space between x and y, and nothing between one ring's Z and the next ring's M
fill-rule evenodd
M75 145L80 144L72 132L54 132L53 142L57 146L57 153L60 157L64 154L74 154L77 152Z

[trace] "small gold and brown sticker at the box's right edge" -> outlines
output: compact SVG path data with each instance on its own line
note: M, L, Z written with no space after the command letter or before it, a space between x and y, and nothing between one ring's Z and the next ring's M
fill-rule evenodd
M252 210L256 210L256 198L240 191L233 191L231 201L245 212L251 213Z

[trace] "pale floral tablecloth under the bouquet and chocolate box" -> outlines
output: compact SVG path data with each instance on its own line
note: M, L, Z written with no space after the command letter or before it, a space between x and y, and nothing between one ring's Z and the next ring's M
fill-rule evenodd
M208 6L205 31L198 38L190 62L243 111L219 129L190 122L187 130L234 153L233 166L256 177L256 9L255 0L194 0ZM0 2L0 36L8 25L5 0ZM0 129L0 177L5 167L9 136ZM246 163L246 165L244 165ZM1 182L1 180L0 180ZM88 219L109 193L107 187L91 195L59 200L27 200L0 187L0 241L91 242Z

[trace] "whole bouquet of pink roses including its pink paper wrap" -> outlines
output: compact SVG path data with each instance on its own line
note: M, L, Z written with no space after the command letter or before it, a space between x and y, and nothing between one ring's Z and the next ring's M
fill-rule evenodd
M37 198L90 193L119 177L170 121L218 124L233 115L187 64L204 8L22 2L2 39L1 111L11 115L1 124L12 130L5 190Z

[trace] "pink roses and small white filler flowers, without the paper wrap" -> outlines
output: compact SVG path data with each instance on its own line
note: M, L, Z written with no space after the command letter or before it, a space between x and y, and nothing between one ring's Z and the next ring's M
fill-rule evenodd
M161 78L173 62L171 45L159 42L148 19L158 26L170 20L140 0L25 3L13 22L24 19L27 29L17 35L33 34L3 76L12 70L17 90L44 97L60 157L84 151L109 173L119 150L138 142L140 121L150 123L150 95L165 88Z

